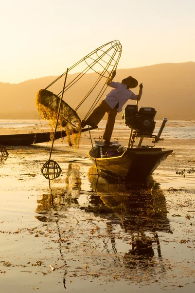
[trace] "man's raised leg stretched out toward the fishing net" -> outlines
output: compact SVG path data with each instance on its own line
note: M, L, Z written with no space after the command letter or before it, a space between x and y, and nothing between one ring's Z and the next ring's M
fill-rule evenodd
M86 125L89 125L91 127L95 127L98 125L98 123L102 120L104 117L106 111L108 109L111 109L110 106L107 105L107 103L103 100L97 108L93 110L91 115L88 117L86 121L81 121L81 126L85 127Z

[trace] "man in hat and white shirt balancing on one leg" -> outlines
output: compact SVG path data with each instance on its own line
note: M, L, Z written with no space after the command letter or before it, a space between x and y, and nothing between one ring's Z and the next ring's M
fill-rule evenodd
M103 135L105 144L110 144L112 131L114 128L115 118L117 113L122 111L124 104L130 100L140 101L142 96L143 85L140 84L139 92L135 95L129 88L135 88L138 85L138 81L132 76L128 76L123 79L121 83L113 82L113 78L116 75L116 70L113 71L112 75L108 77L106 84L113 89L106 95L106 98L96 107L87 120L81 121L81 127L84 128L86 125L95 127L102 120L105 113L107 112L106 129Z

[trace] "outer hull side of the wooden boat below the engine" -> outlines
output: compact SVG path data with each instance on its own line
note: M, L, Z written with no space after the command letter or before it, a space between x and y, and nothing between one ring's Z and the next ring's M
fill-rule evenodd
M127 148L118 157L95 158L91 149L88 156L106 174L140 181L152 174L172 152L161 148Z

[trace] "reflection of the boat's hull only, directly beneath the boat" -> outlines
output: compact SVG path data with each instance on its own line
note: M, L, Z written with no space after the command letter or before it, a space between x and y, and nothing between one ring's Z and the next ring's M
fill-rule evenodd
M91 203L93 205L104 203L107 207L114 208L123 204L129 215L137 214L139 217L151 215L159 216L160 218L165 216L166 218L165 196L160 189L160 185L154 182L152 178L149 178L147 182L142 184L123 184L111 177L98 177L93 175L93 172L95 172L95 168L91 167L89 169L89 181L91 188L99 195L99 198L91 196ZM151 221L150 218L148 220L149 222ZM136 225L136 222L133 224ZM134 229L139 229L139 227L134 226Z

